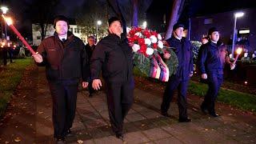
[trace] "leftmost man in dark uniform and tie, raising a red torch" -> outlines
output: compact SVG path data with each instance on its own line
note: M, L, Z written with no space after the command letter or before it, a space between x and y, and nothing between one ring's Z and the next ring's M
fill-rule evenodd
M68 19L57 16L54 28L54 36L42 40L33 57L38 66L46 66L53 99L54 138L65 143L74 121L78 82L82 77L82 87L88 86L90 67L84 43L68 31Z

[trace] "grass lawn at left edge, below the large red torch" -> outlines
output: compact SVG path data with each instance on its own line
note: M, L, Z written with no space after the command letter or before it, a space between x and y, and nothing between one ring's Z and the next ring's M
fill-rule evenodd
M21 81L26 66L34 62L31 58L15 59L14 61L0 72L0 117L6 110L7 103L14 94L16 86Z

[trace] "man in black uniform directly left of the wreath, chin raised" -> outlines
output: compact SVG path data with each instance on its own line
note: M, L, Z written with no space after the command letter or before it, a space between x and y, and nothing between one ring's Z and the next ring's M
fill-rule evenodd
M109 35L98 42L90 59L94 90L99 90L102 77L106 82L106 97L110 123L117 138L123 138L123 120L134 101L133 54L122 34L119 18L109 19Z

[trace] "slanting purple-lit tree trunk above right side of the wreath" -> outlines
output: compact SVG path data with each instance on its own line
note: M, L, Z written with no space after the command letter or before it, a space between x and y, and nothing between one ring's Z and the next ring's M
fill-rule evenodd
M184 4L184 0L174 0L173 8L170 14L168 29L166 31L165 40L171 37L171 34L173 33L173 26L176 22L178 22L178 18L182 13L183 4Z

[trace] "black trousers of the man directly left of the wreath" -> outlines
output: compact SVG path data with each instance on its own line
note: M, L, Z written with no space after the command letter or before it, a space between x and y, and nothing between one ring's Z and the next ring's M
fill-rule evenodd
M134 81L106 82L106 97L112 130L120 134L123 120L134 102Z

